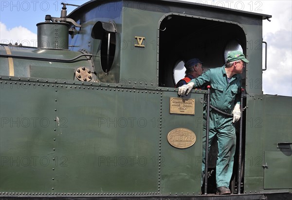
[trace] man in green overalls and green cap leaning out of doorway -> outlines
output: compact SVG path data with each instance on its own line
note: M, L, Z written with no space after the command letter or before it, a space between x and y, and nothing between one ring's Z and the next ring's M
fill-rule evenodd
M218 138L218 158L216 164L217 194L231 194L229 183L233 171L234 154L236 149L236 133L234 123L241 116L240 89L241 73L245 63L249 61L240 51L231 51L227 55L226 64L222 67L208 69L198 78L188 84L179 87L178 94L183 97L193 88L211 85L210 104L225 112L232 113L232 117L226 117L215 110L210 109L209 123L209 150L215 135ZM204 111L204 122L206 113ZM206 130L206 123L203 125ZM203 137L202 171L205 170L205 136Z

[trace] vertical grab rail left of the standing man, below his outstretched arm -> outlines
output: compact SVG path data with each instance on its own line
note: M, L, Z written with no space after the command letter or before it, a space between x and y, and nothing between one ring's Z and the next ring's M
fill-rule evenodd
M206 120L206 142L205 142L205 185L204 185L204 195L207 195L208 189L208 149L209 149L209 117L210 117L210 88L208 85L208 93L207 93L207 120Z

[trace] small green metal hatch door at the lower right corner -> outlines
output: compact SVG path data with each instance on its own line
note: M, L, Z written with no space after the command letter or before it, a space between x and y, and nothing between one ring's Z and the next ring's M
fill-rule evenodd
M292 151L265 151L264 189L292 188Z

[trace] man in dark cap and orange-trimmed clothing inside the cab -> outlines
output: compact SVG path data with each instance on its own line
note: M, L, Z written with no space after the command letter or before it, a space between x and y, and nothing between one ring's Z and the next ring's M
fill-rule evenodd
M176 84L175 87L180 87L186 83L189 83L192 79L201 76L204 70L202 64L203 63L198 58L188 60L184 64L184 67L186 68L184 72L185 76Z

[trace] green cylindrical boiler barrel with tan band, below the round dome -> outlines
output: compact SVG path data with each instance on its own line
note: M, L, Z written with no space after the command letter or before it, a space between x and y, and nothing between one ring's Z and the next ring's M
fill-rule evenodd
M41 58L68 60L80 56L82 54L81 52L71 50L41 50L15 46L8 46L8 48L12 55L36 58L13 58L14 75L16 77L74 80L76 79L74 77L74 70L78 67L87 67L92 70L91 63L84 56L76 59L72 63L37 60ZM3 45L0 45L0 54L7 54ZM0 72L2 76L9 76L8 58L6 57L0 57Z

